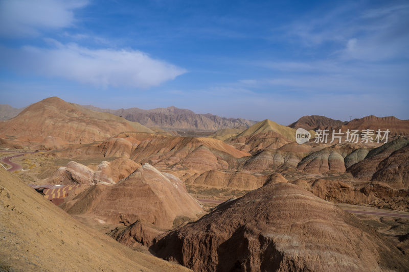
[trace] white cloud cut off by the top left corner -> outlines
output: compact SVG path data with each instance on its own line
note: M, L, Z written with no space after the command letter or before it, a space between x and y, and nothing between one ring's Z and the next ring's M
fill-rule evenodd
M85 0L0 1L0 35L37 35L42 29L70 27L75 20L73 10L85 5Z

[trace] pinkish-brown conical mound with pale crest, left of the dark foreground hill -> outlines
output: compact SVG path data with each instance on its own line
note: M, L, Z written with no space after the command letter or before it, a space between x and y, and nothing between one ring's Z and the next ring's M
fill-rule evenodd
M196 218L203 212L183 182L149 164L117 184L90 187L62 208L70 214L93 215L116 225L145 219L160 229L171 229L179 216Z

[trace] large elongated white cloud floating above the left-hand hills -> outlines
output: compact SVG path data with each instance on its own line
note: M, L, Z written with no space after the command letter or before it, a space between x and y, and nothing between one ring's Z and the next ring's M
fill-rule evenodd
M102 87L148 88L186 72L167 62L135 50L89 49L75 43L52 48L24 46L1 50L5 65L18 71L59 77Z

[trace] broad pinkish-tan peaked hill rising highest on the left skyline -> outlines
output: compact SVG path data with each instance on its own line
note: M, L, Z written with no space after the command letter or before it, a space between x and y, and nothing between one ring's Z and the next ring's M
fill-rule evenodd
M137 122L109 114L97 113L66 103L58 97L46 98L30 105L16 117L0 122L0 138L21 142L47 142L52 136L64 143L92 143L123 131L153 133Z

